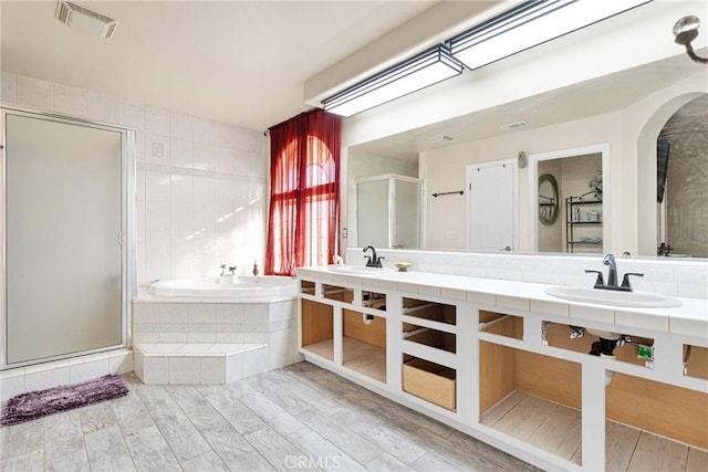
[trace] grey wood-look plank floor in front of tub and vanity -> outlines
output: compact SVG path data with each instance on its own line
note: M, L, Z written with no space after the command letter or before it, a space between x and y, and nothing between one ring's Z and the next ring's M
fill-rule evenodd
M226 386L147 386L0 428L6 471L533 471L308 363Z

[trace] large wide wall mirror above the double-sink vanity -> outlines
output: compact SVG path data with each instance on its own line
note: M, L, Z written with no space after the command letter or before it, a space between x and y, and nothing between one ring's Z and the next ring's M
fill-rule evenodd
M465 198L430 197L434 192L465 188L466 166L516 158L520 151L532 156L604 146L603 150L558 154L537 164L529 161L525 168L519 166L518 250L553 253L628 251L633 255L656 256L660 243L665 242L665 247L671 247L670 255L706 258L706 248L699 248L695 242L706 241L708 231L708 223L705 223L708 202L706 190L701 190L708 188L705 180L708 172L705 153L708 149L705 132L708 123L707 76L707 67L699 67L677 54L348 146L348 214L343 221L348 227L350 238L344 243L348 247L362 244L356 239L356 206L352 203L356 195L355 178L398 174L421 179L426 190L420 248L466 250ZM673 107L665 106L667 103L675 105L676 97L684 95L691 98L681 99ZM698 99L698 96L702 98ZM691 102L694 98L696 102ZM687 108L681 108L683 105ZM671 118L674 113L677 116ZM647 133L647 123L658 119L659 115L660 123ZM500 128L523 120L528 126L511 132ZM659 134L670 141L666 197L660 204L656 195ZM685 150L688 143L694 143L690 145L693 150ZM702 154L697 149L702 149ZM548 212L548 217L543 217L539 199L539 177L544 174L552 175L559 188L558 210ZM694 187L688 180L699 183ZM600 185L602 191L595 191L593 183ZM542 197L552 198L545 193L545 190L540 192ZM583 206L569 208L566 199L570 197L582 197ZM589 200L596 200L595 208L584 203ZM576 209L580 217L574 221ZM566 217L569 211L570 217ZM555 221L551 222L553 217ZM577 223L573 224L572 238L568 234L570 222ZM579 243L570 248L569 242Z

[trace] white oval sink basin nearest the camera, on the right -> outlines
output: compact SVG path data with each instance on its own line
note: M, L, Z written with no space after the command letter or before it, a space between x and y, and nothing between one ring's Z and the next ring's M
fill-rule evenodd
M676 298L647 292L616 292L581 286L552 286L546 289L545 293L573 302L597 303L601 305L634 306L639 308L671 308L681 306L681 302Z

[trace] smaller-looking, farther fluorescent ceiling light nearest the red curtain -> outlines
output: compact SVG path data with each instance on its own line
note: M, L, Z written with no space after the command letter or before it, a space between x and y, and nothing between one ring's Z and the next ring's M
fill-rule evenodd
M352 116L461 73L462 64L439 44L322 103L327 112Z

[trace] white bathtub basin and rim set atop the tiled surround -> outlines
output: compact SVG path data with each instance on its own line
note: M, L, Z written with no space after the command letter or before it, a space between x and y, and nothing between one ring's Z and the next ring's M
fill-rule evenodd
M147 292L174 297L268 298L296 295L298 280L278 275L176 279L154 282Z

